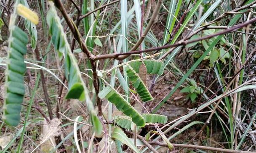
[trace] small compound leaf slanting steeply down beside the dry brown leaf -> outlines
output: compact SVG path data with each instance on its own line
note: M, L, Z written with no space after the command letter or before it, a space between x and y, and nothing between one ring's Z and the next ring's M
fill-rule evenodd
M149 90L147 90L146 85L141 80L141 78L136 73L136 71L134 71L133 68L131 68L131 66L129 66L129 65L127 65L125 67L125 71L127 73L127 76L129 77L129 79L131 80L133 87L135 87L137 93L139 94L141 100L144 102L153 100L154 98L149 93Z

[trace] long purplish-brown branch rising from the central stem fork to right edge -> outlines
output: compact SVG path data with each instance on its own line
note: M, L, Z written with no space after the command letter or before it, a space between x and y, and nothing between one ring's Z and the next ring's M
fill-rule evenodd
M200 38L197 38L195 40L188 40L189 37L187 37L186 40L180 40L179 42L177 42L175 44L172 44L172 45L164 45L164 46L161 46L161 47L153 47L153 48L149 48L149 49L146 49L146 50L136 50L136 51L127 52L127 53L112 53L112 54L106 54L106 55L97 55L93 58L93 60L96 61L96 60L101 60L101 59L106 59L106 58L114 58L114 59L120 60L120 59L123 59L123 57L120 57L122 55L129 56L129 55L132 55L132 54L147 53L147 52L151 52L151 51L155 51L155 50L162 50L162 49L167 49L167 48L171 48L171 47L187 45L187 44L190 44L190 43L193 43L193 42L198 42L198 41L201 41L201 40L210 39L212 37L216 37L216 36L219 36L219 35L222 35L222 34L226 34L228 32L232 32L236 29L242 28L243 26L247 26L248 24L252 24L255 21L256 21L256 18L253 18L250 21L246 21L242 24L238 24L237 26L232 26L231 28L228 28L224 31L217 32L215 34L211 34L211 35L208 35L208 36L205 36L205 37L200 37ZM163 55L162 59L164 57L166 57L168 54L169 54L169 52L166 52Z

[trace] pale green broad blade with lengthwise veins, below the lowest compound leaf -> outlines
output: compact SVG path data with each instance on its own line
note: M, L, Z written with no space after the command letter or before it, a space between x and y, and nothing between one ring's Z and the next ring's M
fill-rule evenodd
M136 148L136 146L133 145L133 142L125 135L122 129L119 127L116 127L114 129L114 132L112 133L112 139L119 140L125 145L128 145L135 153L139 153L139 150Z

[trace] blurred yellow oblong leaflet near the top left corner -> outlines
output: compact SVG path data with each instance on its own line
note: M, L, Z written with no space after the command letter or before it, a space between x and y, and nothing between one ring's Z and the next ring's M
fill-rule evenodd
M29 8L22 4L17 5L17 14L19 14L19 16L22 16L23 18L28 19L33 24L38 24L39 22L37 13L35 13L34 11L30 10Z

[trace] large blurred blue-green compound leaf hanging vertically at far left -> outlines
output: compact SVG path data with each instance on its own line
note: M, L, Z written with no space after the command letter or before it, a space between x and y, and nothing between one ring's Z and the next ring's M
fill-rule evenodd
M28 36L23 30L15 26L17 4L18 2L15 3L9 26L10 36L3 105L3 121L11 126L17 126L20 122L21 103L25 95L24 74L27 70L23 56L27 53Z

